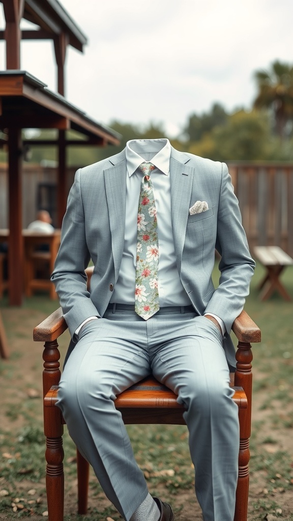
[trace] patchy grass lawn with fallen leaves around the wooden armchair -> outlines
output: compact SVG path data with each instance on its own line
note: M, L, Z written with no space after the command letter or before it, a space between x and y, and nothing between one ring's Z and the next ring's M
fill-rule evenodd
M253 346L253 431L251 437L249 521L275 518L293 521L293 302L277 294L260 302L257 285L264 275L257 266L245 306L262 330ZM215 278L217 277L215 271ZM293 299L293 267L282 276ZM46 512L44 437L42 433L42 346L32 341L33 326L58 306L44 295L21 308L0 308L10 358L0 360L0 519L41 519ZM64 357L68 334L60 341ZM201 519L193 492L193 467L185 426L129 426L137 461L150 492L169 500L176 517ZM65 519L76 515L75 448L65 428ZM119 515L106 500L96 478L90 478L91 521ZM45 516L44 516L45 517Z

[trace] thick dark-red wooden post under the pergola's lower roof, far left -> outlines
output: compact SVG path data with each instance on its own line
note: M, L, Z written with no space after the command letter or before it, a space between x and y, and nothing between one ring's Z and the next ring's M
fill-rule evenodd
M21 306L23 293L21 130L8 131L9 304Z

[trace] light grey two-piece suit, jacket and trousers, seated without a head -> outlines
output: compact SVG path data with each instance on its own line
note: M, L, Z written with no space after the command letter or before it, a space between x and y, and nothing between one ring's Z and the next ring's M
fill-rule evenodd
M174 321L169 321L168 325L167 321L162 322L162 316L151 318L145 323L140 317L133 319L133 317L120 315L119 318L113 318L109 316L109 312L106 312L118 278L124 247L125 151L77 171L63 222L62 243L52 275L72 337L69 349L69 354L71 354L61 382L59 406L63 410L72 438L76 441L81 452L92 463L108 497L124 517L129 519L135 508L144 499L146 485L136 468L125 431L123 431L121 439L116 439L116 435L113 435L113 439L109 441L114 429L116 431L117 428L119 431L123 429L120 418L117 419L119 415L115 412L113 399L115 399L117 392L126 388L131 382L145 376L146 371L151 368L157 378L164 381L179 394L179 401L185 403L187 407L186 422L190 433L190 451L193 463L196 466L197 476L201 477L201 483L197 485L197 495L205 521L213 521L216 518L228 520L233 518L233 495L235 495L237 479L238 453L238 446L235 446L235 442L229 441L233 438L232 432L237 439L238 428L237 407L234 407L235 404L231 400L231 391L228 386L227 362L230 367L235 365L234 347L229 333L231 325L241 312L245 297L248 294L254 262L248 251L245 232L241 226L238 202L230 183L226 165L192 154L180 153L172 148L170 185L172 229L177 267L181 282L194 307L193 316L186 317L184 329L182 329L183 322L181 322L181 344L180 341L178 343L178 338L176 342L174 341L176 331L180 329L178 317L174 317ZM198 200L206 201L209 209L200 214L190 215L189 208ZM216 290L211 278L215 248L221 254L219 263L221 278ZM94 264L94 272L91 289L88 292L84 269L88 266L90 258L92 258ZM213 313L224 321L227 331L226 338L223 341L224 351L219 349L219 344L222 346L223 340L221 335L212 322L202 317L204 313ZM196 315L199 316L196 317ZM84 326L81 330L81 338L76 344L78 339L75 331L81 322L89 316L103 318L91 321ZM114 322L115 320L120 321L114 324L111 318ZM151 324L155 323L160 325L160 328L157 327L158 331L160 330L161 343L169 342L167 354L166 352L162 354L158 343L153 345L150 343L148 354L144 351L142 327L145 329L145 324L148 324L146 327L148 329ZM195 324L196 329L194 329ZM114 332L112 326L116 327ZM153 331L154 329L152 329L152 334ZM164 331L163 337L162 331ZM117 365L114 377L115 384L113 381L112 387L108 388L108 386L106 392L105 387L103 387L105 382L100 384L100 381L105 378L107 384L109 383L108 380L112 376L111 371L108 371L107 368L112 362L113 367L116 367L115 364L119 358L117 356L115 362L113 360L116 355L113 355L113 358L108 358L109 349L115 344L115 335L119 336L120 339L120 351L121 339L124 342L126 358L127 352L134 349L128 341L133 336L132 343L136 344L136 348L139 346L140 363L133 368L135 366L133 362L133 367L131 369L128 367L129 372L124 379L121 377L124 368ZM111 342L109 342L109 338ZM97 341L95 342L95 340ZM197 366L197 369L194 369L193 378L189 377L188 384L185 381L181 385L181 383L178 383L181 378L178 375L181 375L181 371L182 375L185 375L184 378L187 378L185 374L187 367L184 368L182 359L184 356L190 356L190 347L192 346L193 349L195 344L197 349L201 350L200 364L202 365L198 362L199 355L194 348L192 356L196 359L194 367ZM186 345L188 345L188 354L185 353L181 359L181 352L184 353ZM117 345L115 345L116 349L118 349ZM92 387L91 392L84 393L88 381L91 380L91 376L88 376L87 379L87 375L91 374L92 362L88 361L84 366L83 361L85 356L89 356L91 350L93 350L93 356L96 353L100 356L99 371L95 373L94 383L91 383L91 385L100 386L100 388L99 392L96 389L93 392ZM86 353L88 354L86 355ZM176 360L174 364L177 364L174 365L173 369L170 359L168 360L168 369L166 365L163 367L163 362L166 357L170 356L170 353L173 353L172 360L174 358ZM121 356L124 357L124 354ZM131 356L130 354L129 360L132 361ZM137 359L138 352L135 356ZM146 362L146 358L148 358L148 362ZM180 360L179 362L177 362L177 358ZM190 364L192 365L189 361L189 367ZM81 369L82 366L84 366L83 369ZM196 370L199 370L199 367L201 367L201 370L197 373L197 381L194 382L194 375L196 375ZM103 368L103 373L101 373L101 368ZM170 374L168 374L168 370ZM80 371L83 371L82 378ZM79 376L77 376L78 373ZM117 377L117 374L119 377ZM206 382L203 384L205 377L201 378L201 375L205 374L207 380L213 382L213 389L209 387L210 384L207 384L208 388L205 387L202 391ZM211 392L214 396L219 396L218 401L216 400L216 408L221 407L221 428L215 421L216 411L210 411L208 425L204 426L202 420L207 410L206 395L210 395ZM106 405L104 403L103 406L97 406L96 401L92 402L94 393L95 399L97 399L99 393L103 395L102 401ZM105 399L106 394L107 399ZM95 424L92 415L89 413L87 416L87 413L84 412L87 406L91 413L94 409L97 414ZM194 407L196 414L201 418L199 421L194 419ZM226 420L223 419L223 407L227 408ZM76 412L77 409L79 410L78 413ZM106 409L107 414L105 415ZM111 411L111 414L109 414L109 411ZM89 427L92 422L93 425ZM79 425L78 428L77 425ZM103 428L101 428L101 425L103 425ZM107 425L106 430L104 430L105 425ZM115 425L116 427L114 427ZM206 443L207 438L209 438L208 431L214 433L211 436L210 445ZM82 436L80 436L80 432L82 432ZM210 464L206 464L207 454L215 452L215 449L212 450L212 439L217 436L219 437L218 441L221 440L222 442L222 450L225 452L226 447L226 453L228 452L231 455L230 462L227 464L224 474L220 475L218 483L216 483L215 475L219 472L213 470L213 476L211 476L212 469L215 466L219 468L223 462L220 464L217 457L216 460L212 461L211 456ZM87 441L85 441L86 438ZM224 438L225 442L223 442ZM101 439L103 440L102 444L107 445L108 443L106 450L104 450L104 445L103 449L97 449L97 445L101 445ZM84 441L82 442L82 440ZM197 448L195 440L197 440ZM125 449L125 461L120 461L119 444L120 446L123 445L124 448L128 447L127 450ZM200 452L203 450L202 446L205 445L204 457L200 462ZM200 452L198 446L200 446ZM110 462L108 462L109 453L113 457L113 461L110 458ZM115 462L118 461L120 465L115 465ZM129 461L131 461L131 465ZM126 474L124 465L127 466L127 473L132 473L133 477L133 479L129 479L129 488L125 486L125 482L121 482L120 487L119 483L116 483L116 486L113 484L116 480L123 481L123 476ZM113 466L115 466L115 472L113 472ZM205 466L205 469L203 469L203 466ZM114 475L112 476L111 473ZM227 476L231 476L231 478ZM231 483L227 485L229 479L231 479ZM229 489L229 487L231 489L230 495L228 494L229 498L222 498L225 494L224 490ZM131 490L133 497L131 497ZM216 497L217 499L215 499Z

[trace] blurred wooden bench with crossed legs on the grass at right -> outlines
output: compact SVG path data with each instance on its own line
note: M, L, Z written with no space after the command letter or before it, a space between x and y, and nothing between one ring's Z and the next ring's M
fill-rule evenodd
M274 291L278 291L285 300L291 301L290 295L280 282L280 275L286 266L293 265L293 259L279 246L255 246L254 256L266 268L265 277L259 284L259 290L262 290L260 299L267 300Z

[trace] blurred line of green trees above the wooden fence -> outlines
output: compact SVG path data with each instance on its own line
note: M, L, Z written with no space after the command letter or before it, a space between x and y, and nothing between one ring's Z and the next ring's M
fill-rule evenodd
M178 149L214 160L293 160L293 65L274 61L268 70L254 72L257 88L252 107L228 113L214 103L209 111L187 117L180 134L171 143ZM113 155L131 139L168 137L163 123L134 125L112 120L109 127L121 134L119 146L69 147L68 164L85 165ZM40 139L53 136L43 130ZM0 161L5 160L0 151ZM56 160L54 147L33 147L31 161Z

